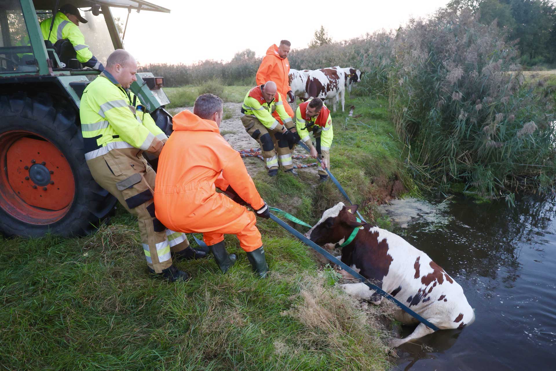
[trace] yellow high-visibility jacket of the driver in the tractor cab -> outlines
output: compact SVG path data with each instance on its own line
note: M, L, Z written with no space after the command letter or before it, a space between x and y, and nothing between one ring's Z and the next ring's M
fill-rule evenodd
M79 27L66 17L66 14L62 12L56 13L56 19L54 19L54 27L52 27L52 32L50 32L50 23L52 22L52 17L44 19L41 22L42 36L46 40L48 39L52 44L56 41L67 38L69 42L72 43L73 49L77 53L77 60L83 63L83 65L95 70L104 70L102 63L97 60L93 53L89 50L89 46L85 44L85 36L79 30ZM50 38L48 38L48 33L50 33Z

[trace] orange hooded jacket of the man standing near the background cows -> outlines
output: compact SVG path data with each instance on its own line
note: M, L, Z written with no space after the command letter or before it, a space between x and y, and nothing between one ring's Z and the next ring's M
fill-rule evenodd
M282 59L278 54L278 47L272 44L266 51L266 56L262 58L259 71L257 71L257 85L263 85L267 81L274 81L277 91L282 95L282 99L287 97L287 92L291 90L289 85L290 62L287 57Z

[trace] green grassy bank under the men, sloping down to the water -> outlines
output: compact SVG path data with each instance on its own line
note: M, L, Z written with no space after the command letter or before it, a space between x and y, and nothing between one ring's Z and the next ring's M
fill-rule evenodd
M354 105L354 115L361 116L348 117L349 108L333 115L331 150L332 172L366 217L386 227L388 221L376 212L378 200L401 181L410 187L394 126L386 119L387 104L369 97L349 100L346 107ZM264 173L254 176L262 197L307 222L342 200L331 182L318 184L314 175L280 173L269 179ZM226 275L214 260L205 259L177 264L193 275L186 284L151 279L137 221L122 209L111 225L88 238L0 238L0 365L42 370L388 368L385 334L376 323L379 311L361 309L337 290L337 274L274 222L258 224L272 271L266 280L251 273L235 236L226 236L226 243L240 258Z

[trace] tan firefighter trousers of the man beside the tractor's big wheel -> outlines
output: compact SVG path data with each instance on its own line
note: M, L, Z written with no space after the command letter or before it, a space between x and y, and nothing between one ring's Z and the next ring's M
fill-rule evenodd
M87 161L93 179L137 216L143 252L149 268L156 273L172 265L170 252L189 246L187 236L166 229L155 216L152 199L156 172L135 148L113 149Z

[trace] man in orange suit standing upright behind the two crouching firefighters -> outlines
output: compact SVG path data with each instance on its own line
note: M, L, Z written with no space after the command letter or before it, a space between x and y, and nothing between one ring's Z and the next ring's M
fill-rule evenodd
M290 52L291 43L287 40L280 41L280 46L272 44L266 51L266 56L262 58L261 65L256 75L257 85L264 85L267 81L274 81L277 86L277 91L285 99L288 98L290 103L295 100L294 92L292 92L289 85L290 62L287 60L287 54ZM290 105L284 105L286 113L291 118L294 118L294 111ZM272 114L276 120L280 121L280 116L275 112Z

